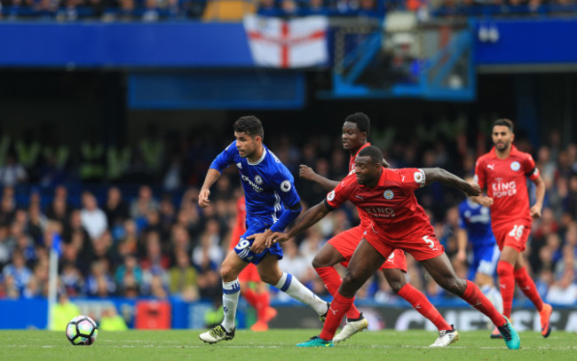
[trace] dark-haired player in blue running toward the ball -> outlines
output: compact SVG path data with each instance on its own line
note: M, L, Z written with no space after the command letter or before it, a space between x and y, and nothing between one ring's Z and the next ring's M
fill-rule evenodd
M200 334L201 340L208 343L233 339L234 317L241 290L238 276L249 263L257 265L260 279L311 306L321 320L328 311L328 302L322 301L298 279L281 271L281 246L264 247L267 237L274 232L283 232L302 210L292 175L263 144L265 131L256 116L243 116L234 122L234 137L236 140L210 164L198 200L202 208L207 207L210 186L215 184L223 169L235 165L245 194L247 232L221 265L225 319L221 325ZM249 239L253 234L257 236ZM253 252L263 248L265 250L260 253Z

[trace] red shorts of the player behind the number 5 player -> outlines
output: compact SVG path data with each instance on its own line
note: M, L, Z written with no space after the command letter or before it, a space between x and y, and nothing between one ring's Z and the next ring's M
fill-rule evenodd
M335 247L338 253L343 255L346 261L341 264L344 267L349 266L349 261L351 261L352 254L354 250L359 246L360 239L363 239L363 233L365 229L360 225L351 228L350 230L340 232L332 239L328 239L328 244ZM395 249L386 256L387 260L379 268L379 270L384 269L399 269L401 271L407 272L407 258L405 254L400 249Z

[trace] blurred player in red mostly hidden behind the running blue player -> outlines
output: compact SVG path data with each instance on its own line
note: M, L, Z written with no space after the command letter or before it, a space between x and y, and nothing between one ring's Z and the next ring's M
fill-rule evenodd
M236 201L236 220L231 244L228 247L230 251L239 243L241 235L247 232L245 207L243 196ZM271 307L271 299L266 284L258 276L257 266L249 263L239 274L239 283L241 284L241 296L257 310L257 322L250 326L250 329L258 332L268 330L268 322L276 316L277 310ZM254 285L254 289L249 286L250 283Z

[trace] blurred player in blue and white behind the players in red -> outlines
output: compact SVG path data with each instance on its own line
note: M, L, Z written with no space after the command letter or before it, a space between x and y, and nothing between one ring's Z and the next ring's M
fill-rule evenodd
M469 183L474 181L473 177L466 177L465 180ZM457 261L462 263L467 261L467 244L470 243L473 259L468 279L474 279L481 292L493 302L495 309L502 313L501 293L494 286L494 273L501 252L491 230L489 208L469 198L463 200L459 205L459 229L456 233L459 246ZM496 327L491 338L502 338Z

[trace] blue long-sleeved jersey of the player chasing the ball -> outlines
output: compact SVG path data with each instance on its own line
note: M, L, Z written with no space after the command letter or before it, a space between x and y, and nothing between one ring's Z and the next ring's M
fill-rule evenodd
M295 180L287 167L265 145L262 157L251 163L242 158L236 141L217 155L210 164L219 172L234 164L241 175L246 198L247 220L256 218L267 226L274 224L284 208L292 208L300 202L295 190Z

